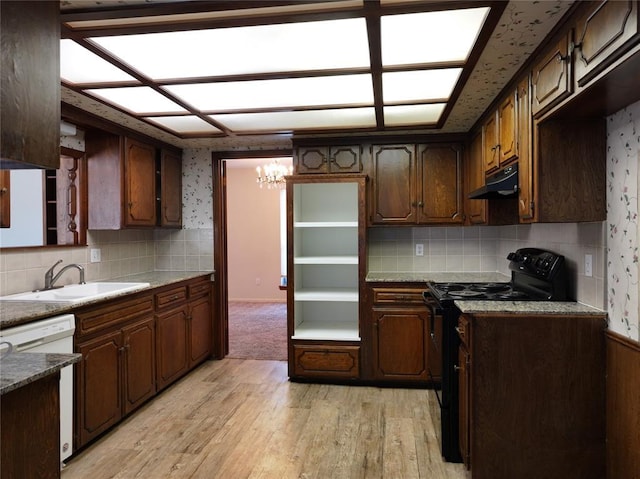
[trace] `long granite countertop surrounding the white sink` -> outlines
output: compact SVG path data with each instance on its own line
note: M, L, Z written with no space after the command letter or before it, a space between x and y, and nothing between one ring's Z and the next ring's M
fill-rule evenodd
M115 298L137 294L173 283L179 283L200 276L212 275L213 271L149 271L132 275L120 276L99 281L113 282L144 282L149 283L146 288L136 291L126 291L110 295L106 298L83 301L78 303L46 303L36 301L2 301L0 300L0 329L6 329L20 324L30 323L39 319L46 319L60 314L72 313L73 310Z

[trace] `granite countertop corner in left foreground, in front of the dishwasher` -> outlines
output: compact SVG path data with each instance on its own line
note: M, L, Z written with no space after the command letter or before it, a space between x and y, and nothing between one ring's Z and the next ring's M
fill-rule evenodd
M54 374L81 358L77 353L9 353L0 359L0 395Z

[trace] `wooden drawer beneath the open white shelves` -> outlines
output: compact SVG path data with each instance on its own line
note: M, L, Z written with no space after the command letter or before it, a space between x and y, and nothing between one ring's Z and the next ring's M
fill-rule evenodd
M295 376L350 378L360 376L360 346L293 346Z

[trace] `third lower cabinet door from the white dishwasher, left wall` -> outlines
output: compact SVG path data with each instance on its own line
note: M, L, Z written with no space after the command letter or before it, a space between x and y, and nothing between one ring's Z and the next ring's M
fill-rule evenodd
M189 368L187 306L156 315L156 387L158 390Z

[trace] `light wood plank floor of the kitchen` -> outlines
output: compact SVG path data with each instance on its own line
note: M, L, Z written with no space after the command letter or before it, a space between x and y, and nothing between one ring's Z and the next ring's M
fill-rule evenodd
M62 479L462 479L432 391L290 383L286 363L209 361L73 458Z

